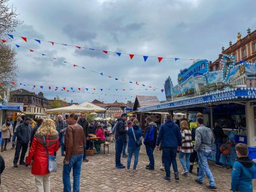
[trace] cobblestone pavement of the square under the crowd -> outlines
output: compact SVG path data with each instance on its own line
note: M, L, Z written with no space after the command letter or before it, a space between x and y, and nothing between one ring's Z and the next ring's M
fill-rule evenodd
M31 174L30 168L25 166L13 168L12 162L15 151L9 148L11 148L10 144L7 146L7 152L1 152L6 166L1 175L0 191L36 191L34 176ZM163 181L162 177L164 177L165 172L160 170L162 153L155 151L154 154L156 161L154 171L145 169L146 164L148 164L148 157L146 156L145 147L141 146L138 171L135 173L126 172L115 168L115 143L111 143L109 154L103 154L102 152L99 155L89 156L89 162L82 163L80 191L207 191L204 188L204 185L208 182L207 179L205 178L204 185L198 185L194 181L197 178L195 174L191 174L191 177L180 176L178 182L174 181L174 177L171 178L170 182ZM121 160L125 165L127 164L127 158ZM51 174L51 191L63 191L63 157L58 156L57 162L57 173ZM179 160L178 166L179 172L182 172ZM230 191L231 170L214 166L214 162L210 162L210 168L216 179L218 191ZM256 181L253 181L253 186L256 190Z

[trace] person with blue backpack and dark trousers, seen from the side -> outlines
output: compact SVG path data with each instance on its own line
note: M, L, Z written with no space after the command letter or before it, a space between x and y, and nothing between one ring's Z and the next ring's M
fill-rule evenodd
M154 149L156 148L156 135L157 135L157 127L156 123L152 121L151 117L146 117L146 133L144 137L144 145L146 146L146 152L148 155L148 159L150 160L150 164L146 166L148 170L155 169L155 161L154 161Z

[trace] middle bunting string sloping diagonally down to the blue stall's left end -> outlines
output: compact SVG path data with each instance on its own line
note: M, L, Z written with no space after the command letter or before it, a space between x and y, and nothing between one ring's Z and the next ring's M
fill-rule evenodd
M7 40L1 39L0 41L1 41L2 43L8 42L8 43L10 43L10 44L13 44L13 45L15 45L15 48L17 48L17 49L19 49L19 48L26 49L26 50L28 50L30 53L37 53L38 55L41 55L42 57L47 57L47 58L51 58L51 59L54 59L54 60L58 60L58 61L61 61L61 62L65 63L65 64L69 64L69 65L71 65L71 66L73 66L73 67L76 67L76 68L88 69L87 67L80 66L80 65L75 65L75 64L70 63L70 62L68 62L68 61L63 61L63 60L61 60L61 59L58 59L57 57L51 57L51 56L46 55L46 54L44 54L44 53L40 53L40 52L38 52L38 51L35 51L34 49L28 49L28 48L26 48L26 47L24 47L24 46L20 46L19 44L14 44L14 43L9 42L9 41L7 41ZM146 86L145 84L139 84L138 81L135 81L135 82L127 81L127 80L123 79L123 77L122 77L122 78L119 78L119 77L113 77L113 76L110 76L110 75L106 75L106 74L103 73L103 72L94 71L94 70L92 70L92 69L88 69L88 71L93 72L93 73L97 73L97 74L102 75L102 76L104 76L104 77L108 77L108 78L111 78L111 79L115 79L116 81L117 81L117 80L121 80L122 82L128 82L129 84L135 84L136 86L148 87L148 88L151 88L152 90L158 90L158 89L160 89L160 88L155 88L155 87L153 87L153 86ZM161 90L161 91L162 91L162 90Z

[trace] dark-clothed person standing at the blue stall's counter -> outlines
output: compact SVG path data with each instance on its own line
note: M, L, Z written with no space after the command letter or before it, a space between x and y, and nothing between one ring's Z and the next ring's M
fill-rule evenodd
M222 139L228 137L224 134L222 127L220 127L220 124L218 122L215 123L214 128L214 136L215 136L215 145L216 145L216 166L223 166L222 163L220 163L220 146L222 145Z

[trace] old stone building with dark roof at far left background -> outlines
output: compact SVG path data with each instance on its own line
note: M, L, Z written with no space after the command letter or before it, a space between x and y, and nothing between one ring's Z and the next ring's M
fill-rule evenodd
M24 89L14 90L10 92L10 101L23 103L24 113L32 115L44 115L45 110L50 108L49 100L44 98L42 92L35 94Z

